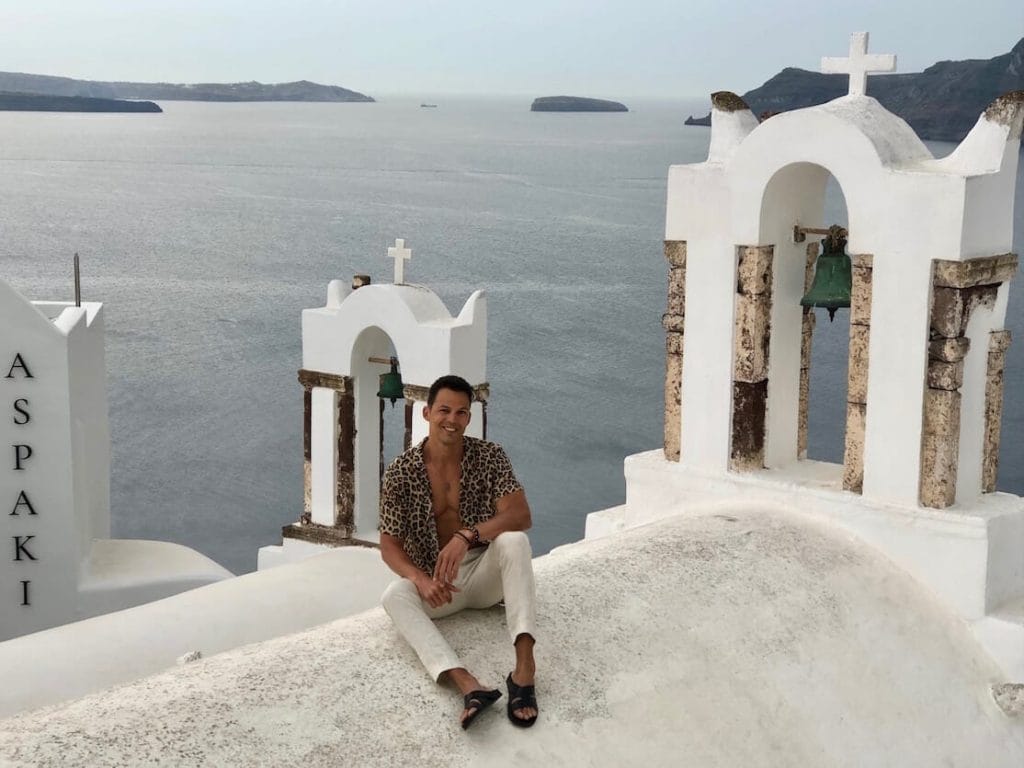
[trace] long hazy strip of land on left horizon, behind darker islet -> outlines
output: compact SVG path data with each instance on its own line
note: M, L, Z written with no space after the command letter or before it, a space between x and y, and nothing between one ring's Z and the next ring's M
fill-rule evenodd
M308 80L295 83L126 83L0 72L0 91L49 96L166 99L170 101L373 101L371 96Z

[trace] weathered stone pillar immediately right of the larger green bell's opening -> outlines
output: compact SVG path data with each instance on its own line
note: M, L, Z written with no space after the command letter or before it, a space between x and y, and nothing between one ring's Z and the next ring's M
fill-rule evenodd
M871 336L870 254L856 254L850 288L850 348L847 357L846 434L843 488L859 494L864 487L864 429L867 423L867 354Z

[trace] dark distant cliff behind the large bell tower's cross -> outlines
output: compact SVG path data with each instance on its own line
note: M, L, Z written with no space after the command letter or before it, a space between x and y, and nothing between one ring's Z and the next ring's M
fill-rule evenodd
M847 93L846 75L786 68L743 94L755 115L786 112L830 101ZM989 59L939 61L921 73L873 75L867 95L899 115L925 139L959 141L997 96L1024 90L1024 38L1009 53ZM687 125L709 125L689 118Z

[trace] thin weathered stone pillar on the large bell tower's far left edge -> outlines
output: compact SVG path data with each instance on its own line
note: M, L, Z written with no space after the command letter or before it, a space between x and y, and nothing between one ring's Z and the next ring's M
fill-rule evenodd
M668 311L662 316L665 345L665 458L678 462L682 436L683 331L686 319L686 242L665 241L669 260Z

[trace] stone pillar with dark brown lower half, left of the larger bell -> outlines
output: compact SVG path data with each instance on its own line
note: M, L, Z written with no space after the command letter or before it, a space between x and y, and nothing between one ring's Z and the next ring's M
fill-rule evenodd
M739 246L736 251L730 468L743 471L764 467L775 249L773 246Z

